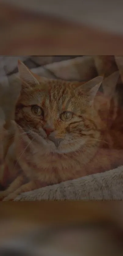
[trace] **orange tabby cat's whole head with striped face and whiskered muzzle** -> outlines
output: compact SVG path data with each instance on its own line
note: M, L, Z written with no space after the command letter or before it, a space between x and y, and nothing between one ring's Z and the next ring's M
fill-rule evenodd
M20 64L20 70L24 64ZM102 77L86 86L61 80L37 79L25 67L22 91L16 105L16 122L45 152L68 153L84 145L95 145L101 122L93 108Z

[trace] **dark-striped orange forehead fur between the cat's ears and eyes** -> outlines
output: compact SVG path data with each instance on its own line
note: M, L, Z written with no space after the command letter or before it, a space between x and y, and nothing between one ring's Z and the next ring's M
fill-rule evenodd
M48 81L41 83L26 95L26 105L39 105L52 111L79 111L78 99L71 89L74 83L67 81ZM22 101L23 103L24 101ZM85 109L85 106L83 107Z

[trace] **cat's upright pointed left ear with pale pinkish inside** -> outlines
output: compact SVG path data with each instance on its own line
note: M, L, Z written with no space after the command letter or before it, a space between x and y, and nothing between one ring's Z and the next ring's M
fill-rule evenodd
M29 70L29 68L27 68L25 64L20 60L18 60L18 71L24 87L31 88L39 85L40 78L38 77L38 75L31 72L31 70Z

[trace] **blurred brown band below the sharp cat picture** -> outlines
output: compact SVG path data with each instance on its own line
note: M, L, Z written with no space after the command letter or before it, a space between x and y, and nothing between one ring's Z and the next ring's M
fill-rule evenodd
M1 256L123 255L120 203L2 203Z

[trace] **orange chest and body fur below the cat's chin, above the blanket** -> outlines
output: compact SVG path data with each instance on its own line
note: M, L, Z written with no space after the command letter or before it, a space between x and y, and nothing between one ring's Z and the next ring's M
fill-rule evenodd
M13 147L14 154L11 152L11 162L13 168L19 166L21 172L29 180L39 181L49 184L60 183L72 180L97 172L104 172L123 164L122 150L100 148L99 144L95 147L81 148L78 152L70 154L45 153L38 144L29 144L19 138L19 144ZM24 143L23 143L24 142ZM13 158L15 156L15 159ZM10 160L10 159L9 159ZM115 166L116 165L116 166ZM14 176L18 175L14 171Z

